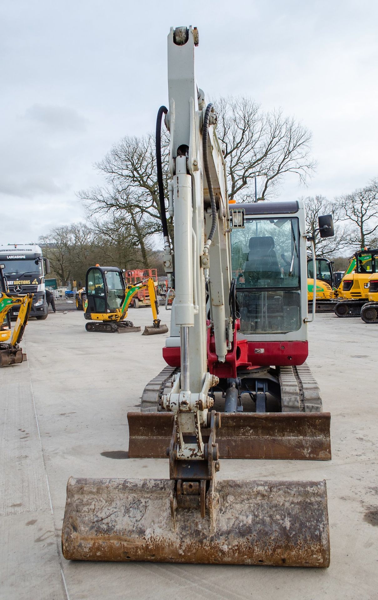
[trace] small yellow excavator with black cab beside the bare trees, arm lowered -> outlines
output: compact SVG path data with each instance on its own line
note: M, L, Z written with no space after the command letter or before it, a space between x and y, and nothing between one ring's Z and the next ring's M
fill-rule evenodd
M105 333L121 333L140 331L126 319L127 311L133 296L140 290L147 289L151 299L152 326L145 327L142 335L165 334L166 325L160 322L159 306L154 280L139 281L136 284L125 283L124 274L116 266L91 266L86 272L86 302L85 319L86 331L101 331Z

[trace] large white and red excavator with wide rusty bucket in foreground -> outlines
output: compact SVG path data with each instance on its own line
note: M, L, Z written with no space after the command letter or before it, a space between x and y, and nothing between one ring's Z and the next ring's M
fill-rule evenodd
M217 114L194 77L198 41L191 27L168 37L156 154L175 301L167 367L146 385L141 412L128 413L129 457L168 456L170 478L70 478L62 550L72 560L326 567L325 481L216 481L221 459L330 460L331 417L305 365L316 299L308 317L304 204L229 205ZM333 235L330 215L319 230ZM311 252L315 261L313 242Z

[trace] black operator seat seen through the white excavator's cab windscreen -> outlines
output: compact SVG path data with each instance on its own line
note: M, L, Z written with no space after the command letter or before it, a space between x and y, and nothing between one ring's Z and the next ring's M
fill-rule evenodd
M281 269L274 250L272 236L250 238L248 247L248 260L244 266L244 277L247 286L263 285L261 280L269 280L271 286L280 285Z

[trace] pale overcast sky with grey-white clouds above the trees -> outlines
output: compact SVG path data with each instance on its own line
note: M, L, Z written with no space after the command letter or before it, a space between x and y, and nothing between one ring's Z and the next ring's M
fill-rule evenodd
M113 142L167 103L170 26L199 28L207 97L250 95L313 131L307 188L332 198L378 176L376 0L15 0L2 4L0 242L83 220L76 191Z

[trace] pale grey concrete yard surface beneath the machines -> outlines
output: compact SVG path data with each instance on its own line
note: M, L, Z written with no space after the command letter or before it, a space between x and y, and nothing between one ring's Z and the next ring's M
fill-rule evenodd
M161 308L169 325L170 313ZM147 308L134 325L151 324ZM378 326L319 314L310 365L331 412L332 461L222 460L218 478L326 479L331 566L68 562L68 478L168 478L167 460L128 459L127 412L165 366L166 335L85 331L81 311L30 320L28 361L0 371L3 600L376 600Z

